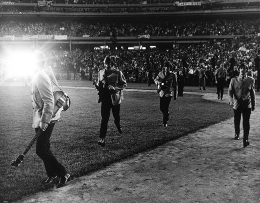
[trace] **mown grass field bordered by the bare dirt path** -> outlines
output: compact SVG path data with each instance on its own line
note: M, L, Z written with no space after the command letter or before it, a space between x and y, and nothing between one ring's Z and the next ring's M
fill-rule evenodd
M102 148L97 144L101 120L97 91L68 87L90 86L90 82L84 81L61 81L60 85L67 86L63 90L69 95L71 106L62 112L60 122L55 125L51 150L73 177L87 175L233 115L227 104L205 101L201 95L184 94L184 97L172 100L169 126L164 128L156 92L124 91L120 112L123 134L117 132L111 113L106 145ZM131 88L131 84L129 86ZM132 87L138 85L132 84ZM155 90L154 84L151 89ZM46 173L35 154L35 145L19 167L10 166L35 134L31 127L30 87L0 86L0 95L1 203L47 190L48 186L41 183Z

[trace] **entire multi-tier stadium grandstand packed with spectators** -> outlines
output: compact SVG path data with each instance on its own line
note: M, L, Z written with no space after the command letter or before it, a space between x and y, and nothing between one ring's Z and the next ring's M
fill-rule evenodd
M42 49L58 79L81 80L84 71L92 80L107 54L116 56L127 81L137 82L149 71L156 75L163 61L183 68L187 85L197 85L201 66L207 85L221 63L229 78L241 61L254 73L259 68L258 0L2 0L0 6L1 55Z

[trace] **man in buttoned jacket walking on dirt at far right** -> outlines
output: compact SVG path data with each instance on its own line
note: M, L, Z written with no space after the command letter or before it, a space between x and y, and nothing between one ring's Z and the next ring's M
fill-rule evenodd
M243 115L243 146L249 145L248 135L250 130L251 111L255 110L255 80L246 75L248 65L243 62L239 66L240 75L232 78L228 88L229 104L234 110L235 140L240 136L240 120Z

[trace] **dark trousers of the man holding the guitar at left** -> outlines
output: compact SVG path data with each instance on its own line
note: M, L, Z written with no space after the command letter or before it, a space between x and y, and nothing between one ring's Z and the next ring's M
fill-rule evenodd
M55 123L49 124L47 129L42 132L36 141L36 154L43 161L47 175L49 177L55 176L65 176L67 171L65 168L57 161L55 156L50 150L50 137ZM39 128L35 128L37 132Z

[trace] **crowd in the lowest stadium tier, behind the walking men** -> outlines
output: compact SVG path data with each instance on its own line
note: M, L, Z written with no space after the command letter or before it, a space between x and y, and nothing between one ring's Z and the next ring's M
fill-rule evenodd
M241 37L232 41L180 44L168 50L52 50L47 56L58 79L79 79L83 70L90 75L91 80L91 76L103 68L105 56L114 55L117 68L123 72L128 82L147 82L149 74L156 76L164 62L170 61L176 71L183 71L183 85L199 85L199 69L202 67L207 76L206 86L211 86L215 84L214 73L220 63L227 69L227 84L232 78L234 67L242 61L249 65L253 74L256 73L255 59L260 54L259 51L259 37Z

